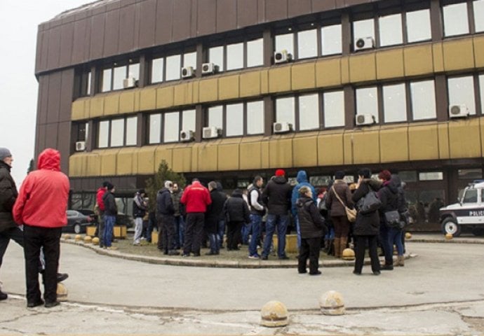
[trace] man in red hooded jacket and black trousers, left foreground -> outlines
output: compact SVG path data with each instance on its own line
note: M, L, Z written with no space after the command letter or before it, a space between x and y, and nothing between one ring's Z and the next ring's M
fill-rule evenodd
M45 307L55 307L57 300L57 271L62 226L67 224L69 179L60 172L60 153L47 148L39 155L37 170L27 175L13 207L13 218L24 225L25 276L27 278L27 307L44 304L39 289L39 255L46 258L43 274Z

